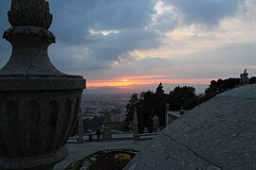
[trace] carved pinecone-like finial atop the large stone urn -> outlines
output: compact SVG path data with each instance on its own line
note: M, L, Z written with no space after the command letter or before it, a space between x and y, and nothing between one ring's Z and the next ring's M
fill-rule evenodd
M52 23L45 0L11 0L8 12L11 26L39 26L48 29Z

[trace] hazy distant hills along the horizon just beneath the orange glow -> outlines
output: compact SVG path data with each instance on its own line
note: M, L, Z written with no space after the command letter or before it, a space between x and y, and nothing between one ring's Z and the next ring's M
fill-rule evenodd
M163 83L164 91L169 93L176 86L192 86L195 88L196 93L204 93L206 88L209 86L208 84L172 84L172 83ZM155 84L145 84L145 85L130 85L123 87L110 87L104 86L99 88L87 88L83 91L83 93L140 93L148 90L154 91L158 83Z

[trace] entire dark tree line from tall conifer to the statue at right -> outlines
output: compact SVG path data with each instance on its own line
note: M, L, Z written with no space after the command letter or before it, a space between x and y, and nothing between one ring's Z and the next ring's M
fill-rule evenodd
M256 77L252 76L249 83L256 83ZM185 110L192 110L195 106L209 100L218 93L226 92L240 85L240 78L227 78L211 80L209 87L204 94L195 94L192 86L177 86L170 93L165 93L163 84L160 83L155 93L152 91L133 93L126 106L126 121L133 121L134 111L137 110L138 132L143 133L144 127L148 127L149 132L153 131L152 118L155 114L159 117L159 126L165 126L166 104L170 105L170 110L180 110L181 106Z

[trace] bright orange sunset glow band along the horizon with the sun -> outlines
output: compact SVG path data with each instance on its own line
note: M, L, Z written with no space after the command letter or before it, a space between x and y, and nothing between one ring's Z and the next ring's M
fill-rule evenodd
M115 79L98 79L98 80L88 80L87 81L87 87L93 88L93 87L128 87L131 85L146 85L146 84L154 84L154 83L173 83L173 84L209 84L210 80L212 78L198 78L198 79L165 79L165 78L159 78L159 77L142 77L139 76L136 78L115 78ZM129 80L128 80L129 79Z

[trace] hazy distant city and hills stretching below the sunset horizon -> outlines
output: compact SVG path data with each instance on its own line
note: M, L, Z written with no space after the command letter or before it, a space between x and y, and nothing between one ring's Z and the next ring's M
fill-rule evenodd
M101 119L109 117L110 122L123 122L125 120L126 105L132 93L155 91L158 84L132 85L123 87L88 88L82 93L83 120ZM165 91L169 92L177 84L165 84ZM197 93L204 93L207 85L197 85ZM102 122L103 123L103 122ZM86 131L86 129L85 129Z

